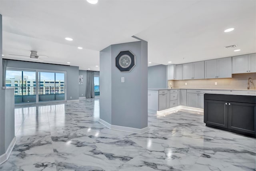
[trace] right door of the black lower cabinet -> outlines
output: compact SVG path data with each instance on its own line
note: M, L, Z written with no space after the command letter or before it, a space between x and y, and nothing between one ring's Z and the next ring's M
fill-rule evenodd
M228 128L255 134L256 104L229 102Z

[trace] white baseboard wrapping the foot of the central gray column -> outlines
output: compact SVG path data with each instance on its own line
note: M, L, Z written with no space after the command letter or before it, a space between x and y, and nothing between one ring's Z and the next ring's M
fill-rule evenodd
M117 131L125 131L125 132L138 133L138 134L143 134L143 133L149 131L148 127L138 129L138 128L132 128L132 127L119 126L119 125L111 125L110 123L108 123L102 119L99 119L99 122L101 124L105 125L106 127L108 127L109 129L113 129L113 130L117 130Z

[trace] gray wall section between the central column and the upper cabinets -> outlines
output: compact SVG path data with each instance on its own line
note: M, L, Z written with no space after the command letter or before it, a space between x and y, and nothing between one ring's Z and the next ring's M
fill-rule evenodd
M166 88L167 85L166 65L148 67L148 88Z

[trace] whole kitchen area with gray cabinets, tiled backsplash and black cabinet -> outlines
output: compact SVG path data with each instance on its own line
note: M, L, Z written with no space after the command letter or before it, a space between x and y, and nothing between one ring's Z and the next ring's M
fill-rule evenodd
M256 54L152 66L148 78L159 79L156 67L163 68L168 86L150 88L156 85L149 79L148 112L198 111L206 126L255 137Z

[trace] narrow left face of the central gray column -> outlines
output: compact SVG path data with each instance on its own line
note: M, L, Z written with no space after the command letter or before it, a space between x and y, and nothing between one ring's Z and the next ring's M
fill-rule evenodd
M100 119L112 123L111 46L100 51Z

